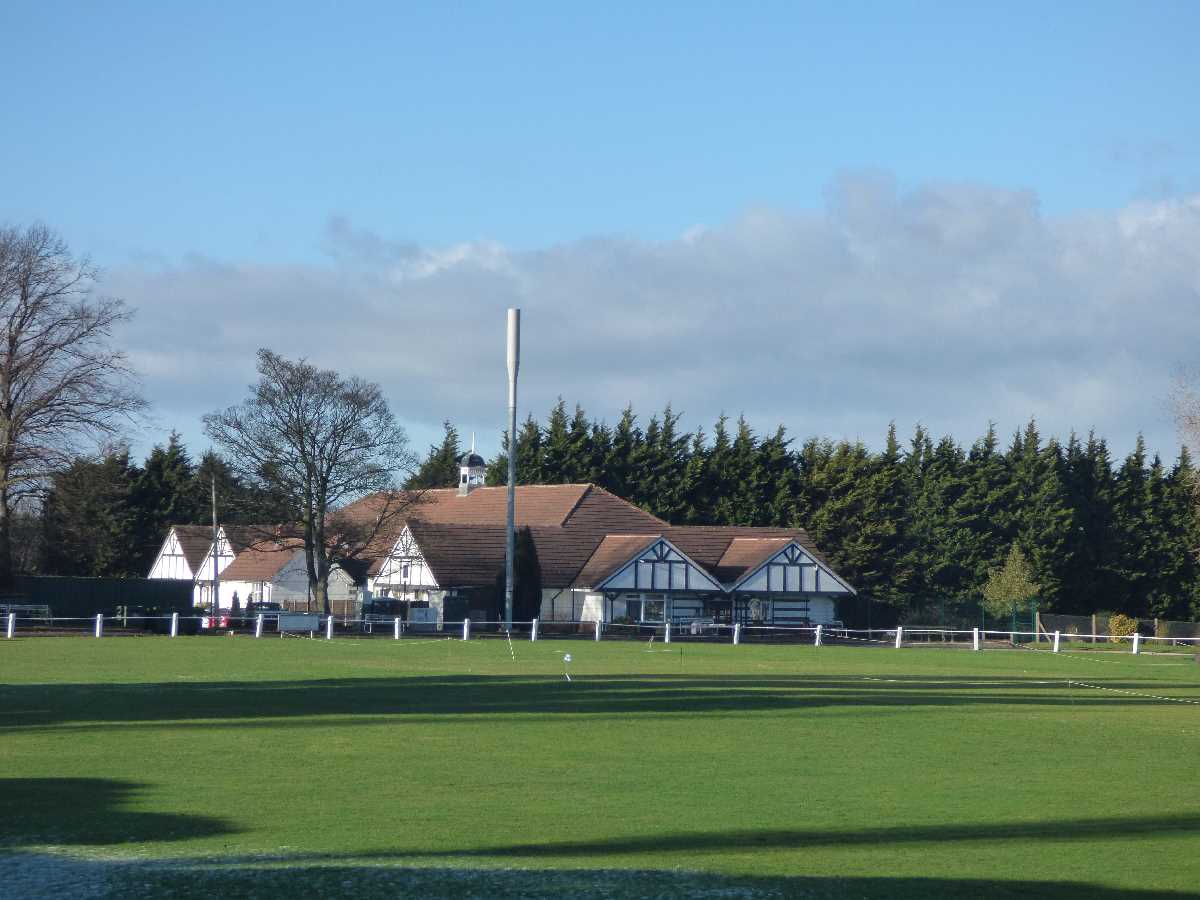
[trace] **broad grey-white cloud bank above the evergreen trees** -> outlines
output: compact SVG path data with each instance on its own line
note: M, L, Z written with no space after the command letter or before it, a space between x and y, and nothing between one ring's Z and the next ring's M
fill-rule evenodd
M266 346L380 382L419 443L450 418L494 449L504 310L521 306L538 415L558 395L608 419L671 401L690 425L744 410L870 443L892 419L970 442L1037 415L1171 455L1162 398L1200 346L1200 198L1046 218L1025 191L870 175L821 211L755 209L673 241L430 248L334 220L326 247L328 265L109 274L138 307L124 340L163 427L198 440Z

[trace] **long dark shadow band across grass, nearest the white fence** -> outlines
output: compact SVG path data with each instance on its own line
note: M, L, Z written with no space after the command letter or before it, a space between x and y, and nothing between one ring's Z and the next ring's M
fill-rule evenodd
M1094 680L1094 679L1093 679ZM1108 688L1164 695L1195 683L1103 680ZM0 731L71 724L308 716L487 714L671 714L781 712L820 707L1112 707L1168 700L1068 688L1064 680L857 676L413 676L306 682L31 684L0 686ZM1174 704L1172 704L1174 706ZM370 724L370 719L364 719ZM304 722L307 724L307 722ZM278 722L272 722L278 725Z

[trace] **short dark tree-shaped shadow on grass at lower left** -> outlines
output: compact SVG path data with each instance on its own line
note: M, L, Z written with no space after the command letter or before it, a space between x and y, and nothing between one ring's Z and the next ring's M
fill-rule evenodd
M98 778L0 779L0 848L187 840L235 830L217 818L126 809L143 787Z

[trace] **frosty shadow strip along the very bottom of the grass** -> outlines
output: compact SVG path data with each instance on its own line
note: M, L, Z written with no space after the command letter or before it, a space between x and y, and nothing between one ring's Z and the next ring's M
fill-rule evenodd
M28 875L26 875L28 872ZM486 869L354 865L247 865L203 862L92 862L0 857L6 883L25 883L23 896L59 898L79 889L89 896L124 898L1054 898L1055 900L1166 900L1181 894L1082 882L982 878L745 876L659 869Z

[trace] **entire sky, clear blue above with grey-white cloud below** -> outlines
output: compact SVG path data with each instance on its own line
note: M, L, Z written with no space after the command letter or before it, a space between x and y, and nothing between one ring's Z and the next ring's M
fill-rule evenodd
M137 310L138 451L270 347L494 452L520 306L522 415L1174 457L1200 6L644 6L5 5L0 222Z

